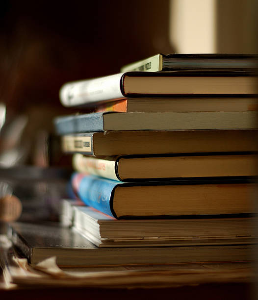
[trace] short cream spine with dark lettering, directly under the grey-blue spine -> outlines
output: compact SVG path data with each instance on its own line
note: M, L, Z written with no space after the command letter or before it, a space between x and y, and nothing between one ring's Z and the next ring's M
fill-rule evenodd
M64 152L83 152L94 155L92 135L61 137L61 148Z

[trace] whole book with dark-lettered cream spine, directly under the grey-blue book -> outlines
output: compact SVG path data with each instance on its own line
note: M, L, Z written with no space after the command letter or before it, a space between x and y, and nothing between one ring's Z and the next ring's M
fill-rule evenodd
M94 156L257 151L257 130L109 131L69 134L62 150Z

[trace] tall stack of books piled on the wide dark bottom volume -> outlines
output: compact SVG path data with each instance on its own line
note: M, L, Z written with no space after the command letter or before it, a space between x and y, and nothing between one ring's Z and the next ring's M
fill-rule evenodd
M250 55L159 54L65 84L63 105L95 112L54 120L86 204L64 200L63 223L99 248L155 247L158 262L148 263L172 262L161 258L164 247L195 262L250 260L254 64Z

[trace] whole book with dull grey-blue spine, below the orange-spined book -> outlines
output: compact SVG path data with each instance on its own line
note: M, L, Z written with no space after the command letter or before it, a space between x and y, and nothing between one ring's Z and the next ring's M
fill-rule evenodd
M257 129L256 111L120 113L100 112L57 117L57 134L132 130Z

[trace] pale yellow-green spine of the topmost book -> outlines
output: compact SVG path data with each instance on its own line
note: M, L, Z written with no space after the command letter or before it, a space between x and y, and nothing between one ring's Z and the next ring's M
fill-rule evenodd
M137 61L135 63L126 65L121 68L121 72L132 72L132 71L142 71L142 72L157 72L162 70L162 55L157 54L155 56Z

